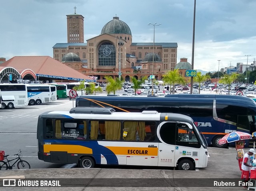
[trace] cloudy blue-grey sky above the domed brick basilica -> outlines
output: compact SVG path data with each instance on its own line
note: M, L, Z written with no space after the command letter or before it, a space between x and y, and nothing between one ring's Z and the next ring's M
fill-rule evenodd
M84 39L100 35L119 16L132 42L178 43L178 61L192 60L194 0L4 0L1 2L0 57L53 56L67 42L66 15L84 16ZM256 58L256 0L196 0L194 69L218 71ZM86 41L85 41L86 42Z

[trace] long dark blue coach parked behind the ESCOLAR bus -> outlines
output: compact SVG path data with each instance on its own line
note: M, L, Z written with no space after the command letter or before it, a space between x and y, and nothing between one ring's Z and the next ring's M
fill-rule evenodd
M112 107L117 112L180 113L190 116L204 134L208 144L218 144L224 135L233 131L256 131L256 102L251 98L232 95L166 95L165 97L78 96L76 106Z

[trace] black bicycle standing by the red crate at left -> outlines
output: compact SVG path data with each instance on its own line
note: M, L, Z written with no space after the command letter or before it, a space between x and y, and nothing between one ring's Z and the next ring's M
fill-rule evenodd
M15 159L17 159L12 165L10 165L10 161L14 161L15 159L12 159L12 160L8 160L7 159L7 157L9 156L9 155L4 155L4 159L6 159L7 160L7 162L6 161L4 161L4 160L2 160L2 161L0 161L0 170L4 170L4 169L6 169L6 170L11 170L12 169L12 167L14 167L14 165L16 164L16 162L18 162L17 163L17 167L18 167L18 169L30 169L30 164L27 162L27 161L25 161L25 160L22 160L21 158L22 158L22 154L21 154L21 150L19 150L19 154L17 153L17 154L15 154L14 156L17 156ZM7 164L8 163L8 164Z

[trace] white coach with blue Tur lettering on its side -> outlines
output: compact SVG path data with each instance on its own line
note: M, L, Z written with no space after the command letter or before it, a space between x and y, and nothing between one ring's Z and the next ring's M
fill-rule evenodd
M28 104L40 105L52 101L52 93L50 85L27 84Z

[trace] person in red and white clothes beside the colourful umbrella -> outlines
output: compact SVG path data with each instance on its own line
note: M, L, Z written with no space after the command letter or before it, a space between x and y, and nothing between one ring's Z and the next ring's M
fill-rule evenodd
M250 164L250 156L252 156L255 153L254 149L250 149L249 152L244 154L243 162L242 162L242 175L241 179L244 180L244 182L249 181L249 173L250 173L250 168L252 165ZM244 186L243 189L247 189L248 187Z

